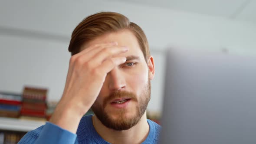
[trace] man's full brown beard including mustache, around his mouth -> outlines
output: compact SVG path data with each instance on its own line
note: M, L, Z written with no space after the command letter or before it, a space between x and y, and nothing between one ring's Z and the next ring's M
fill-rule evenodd
M148 80L148 84L144 86L144 90L140 96L126 91L113 92L103 100L103 105L95 101L95 103L92 105L92 111L99 119L99 121L101 121L101 123L107 128L111 128L116 131L128 130L135 126L140 121L142 115L144 115L148 107L148 102L150 101L150 95L151 83L150 80ZM126 118L125 113L127 110L120 109L118 110L118 118L111 118L109 112L105 110L105 107L110 103L111 100L124 97L131 98L131 101L138 103L138 105L135 107L135 115L132 115L130 118Z

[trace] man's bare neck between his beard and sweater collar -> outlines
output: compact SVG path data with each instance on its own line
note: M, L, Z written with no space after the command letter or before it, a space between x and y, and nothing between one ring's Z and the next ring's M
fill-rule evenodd
M98 134L111 144L141 144L149 133L146 112L142 115L138 124L125 131L107 128L95 115L92 117L92 122Z

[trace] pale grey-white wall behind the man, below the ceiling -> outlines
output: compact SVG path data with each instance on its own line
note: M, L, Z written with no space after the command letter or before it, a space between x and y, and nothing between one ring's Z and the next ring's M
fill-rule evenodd
M0 90L21 92L24 85L38 85L49 88L49 100L59 100L68 69L67 48L72 30L89 14L105 10L124 14L148 36L156 60L148 106L152 111L161 111L163 49L170 46L226 48L237 54L256 55L256 24L253 23L116 1L1 1ZM7 28L36 31L49 37L15 36Z

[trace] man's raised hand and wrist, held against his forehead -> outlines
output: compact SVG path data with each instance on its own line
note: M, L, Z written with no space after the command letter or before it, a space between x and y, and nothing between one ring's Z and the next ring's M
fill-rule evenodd
M127 51L127 47L112 42L90 46L72 56L62 98L49 121L76 133L80 119L96 100L107 73L126 61L120 54Z

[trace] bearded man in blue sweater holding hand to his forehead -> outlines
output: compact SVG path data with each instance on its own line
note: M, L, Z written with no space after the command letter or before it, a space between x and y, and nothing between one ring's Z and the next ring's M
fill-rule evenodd
M69 44L62 98L49 122L19 144L156 144L160 126L147 120L154 59L142 29L120 13L85 18ZM92 108L95 115L83 115Z

